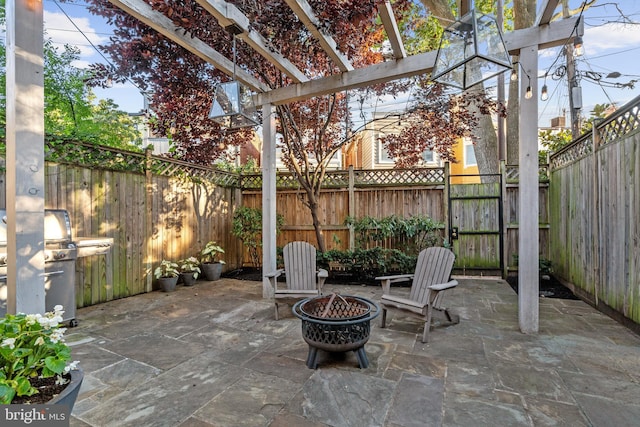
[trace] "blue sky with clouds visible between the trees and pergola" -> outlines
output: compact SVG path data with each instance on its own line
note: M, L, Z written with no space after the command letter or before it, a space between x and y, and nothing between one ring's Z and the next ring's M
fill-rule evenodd
M581 4L581 1L569 2L570 8L577 10L580 10ZM76 66L106 62L92 46L107 44L112 34L112 29L102 17L91 15L82 1L58 3L44 0L44 10L45 31L54 43L60 48L65 43L80 48L81 60ZM583 16L584 55L576 58L576 67L582 77L582 115L588 117L596 104L622 106L640 95L640 62L635 59L640 54L640 1L598 0L584 11ZM555 77L556 70L561 70L565 64L561 51L562 48L557 47L539 53L538 85L542 88L546 82L549 92L549 99L538 104L538 123L541 127L549 126L553 117L562 116L565 111L568 120L567 80L566 77ZM606 78L614 72L620 76ZM587 78L589 76L592 78ZM594 82L593 77L598 76L602 79L599 83ZM508 74L506 80L509 80ZM126 112L136 113L144 108L142 94L131 83L114 84L108 89L96 88L94 92L99 98L113 99ZM370 108L378 111L399 110L403 105L397 100L379 100Z

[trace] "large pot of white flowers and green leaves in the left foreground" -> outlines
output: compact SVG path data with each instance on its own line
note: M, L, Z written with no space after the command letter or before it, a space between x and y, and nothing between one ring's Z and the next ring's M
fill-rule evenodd
M72 408L84 378L61 328L61 305L40 314L0 318L0 404L65 404Z

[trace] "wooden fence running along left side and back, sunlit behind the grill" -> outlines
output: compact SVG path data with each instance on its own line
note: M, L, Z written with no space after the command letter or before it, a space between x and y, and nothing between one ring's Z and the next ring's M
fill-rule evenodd
M46 207L69 211L73 236L114 239L108 255L76 262L78 307L153 290L152 272L161 260L196 255L209 240L226 250L226 270L250 263L247 251L230 231L236 208L262 208L260 174L238 175L149 152L125 152L78 142L47 145L46 159ZM354 247L353 232L345 225L348 216L429 216L445 224L442 236L449 238L448 178L447 167L329 172L320 199L327 248ZM297 181L287 173L278 174L277 180L277 210L285 218L278 246L294 240L317 244ZM517 168L503 167L502 182L502 250L507 265L514 267ZM477 192L463 187L456 194ZM543 250L548 229L546 187L545 183L540 187ZM4 191L4 184L0 189ZM0 194L2 206L5 200ZM471 199L457 209L466 211L464 216L468 218L487 214L481 203ZM474 222L469 224L473 226ZM478 263L487 258L486 248L478 242L458 251L456 265L464 272L486 268ZM492 256L499 256L494 252ZM544 252L542 256L546 257Z

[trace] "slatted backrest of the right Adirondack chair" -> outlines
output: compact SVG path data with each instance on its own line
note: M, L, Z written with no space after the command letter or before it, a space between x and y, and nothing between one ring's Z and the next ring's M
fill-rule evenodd
M449 281L455 258L453 252L443 247L431 247L420 251L409 299L426 304L429 286Z

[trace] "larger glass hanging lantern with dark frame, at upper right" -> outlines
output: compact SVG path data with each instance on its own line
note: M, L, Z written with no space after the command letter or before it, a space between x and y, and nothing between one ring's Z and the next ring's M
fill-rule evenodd
M431 79L466 90L509 69L511 59L496 20L471 10L445 29Z

